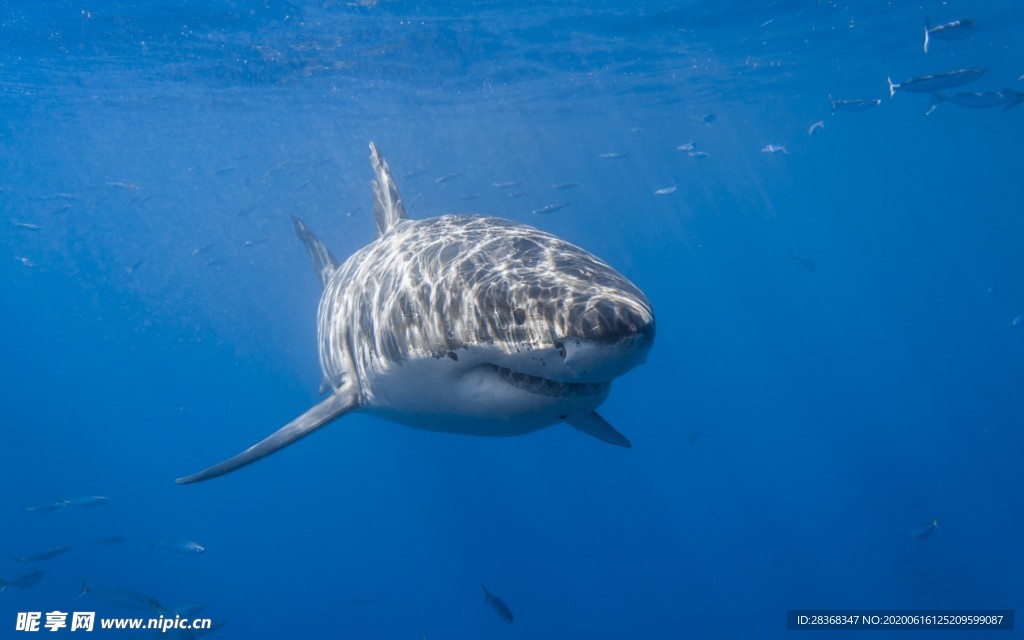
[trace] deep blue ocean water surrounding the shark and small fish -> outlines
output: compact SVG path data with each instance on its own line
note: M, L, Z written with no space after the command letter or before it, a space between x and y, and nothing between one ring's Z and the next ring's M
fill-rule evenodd
M215 638L1019 610L1024 106L886 79L984 69L942 91L1011 104L1022 26L1013 0L4 2L0 578L44 574L0 593L0 637L18 611L153 614L83 580L202 604ZM371 140L412 217L532 224L644 290L654 348L601 410L633 449L355 414L173 482L318 400L289 218L339 258L369 243ZM110 501L27 510L84 496ZM182 540L206 552L150 548Z

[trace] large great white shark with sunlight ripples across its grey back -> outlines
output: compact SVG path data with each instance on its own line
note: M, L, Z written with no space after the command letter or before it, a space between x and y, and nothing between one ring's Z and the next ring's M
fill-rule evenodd
M324 287L322 391L275 433L199 473L229 473L353 411L419 429L510 436L567 423L630 441L596 412L654 341L644 294L583 249L476 215L413 220L370 144L377 239L344 263L299 218Z

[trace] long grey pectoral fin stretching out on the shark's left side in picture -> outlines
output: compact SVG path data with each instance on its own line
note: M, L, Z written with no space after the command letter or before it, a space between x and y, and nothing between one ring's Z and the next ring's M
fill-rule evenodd
M341 418L348 412L355 409L356 404L355 385L345 385L341 389L332 393L331 396L323 402L316 404L281 429L278 429L269 437L253 444L238 456L228 458L227 460L215 464L208 469L204 469L199 473L186 475L185 477L178 478L174 481L178 484L202 482L203 480L215 478L218 475L230 473L236 469L241 469L248 464L256 462L260 458L266 458L278 450L288 446L299 438L309 435L329 422Z

